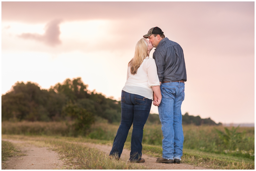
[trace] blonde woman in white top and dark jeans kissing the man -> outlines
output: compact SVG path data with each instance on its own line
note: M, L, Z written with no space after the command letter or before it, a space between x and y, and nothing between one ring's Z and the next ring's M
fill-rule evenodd
M145 38L139 40L135 55L128 63L127 81L121 93L121 124L117 130L110 156L119 159L123 151L129 129L133 124L130 161L143 163L142 136L144 124L150 112L153 91L160 104L162 95L155 60L149 58L152 44Z

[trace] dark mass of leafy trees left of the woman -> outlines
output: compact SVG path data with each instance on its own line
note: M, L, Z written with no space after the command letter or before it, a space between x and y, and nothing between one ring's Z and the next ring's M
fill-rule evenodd
M2 121L84 120L94 116L110 123L121 121L121 102L89 91L87 86L80 77L49 89L41 89L37 83L17 82L2 95Z

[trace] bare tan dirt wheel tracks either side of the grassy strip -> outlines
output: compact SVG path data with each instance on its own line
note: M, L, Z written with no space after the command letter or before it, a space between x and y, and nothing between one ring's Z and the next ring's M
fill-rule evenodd
M34 145L27 144L26 142L7 140L2 139L3 141L9 141L15 144L21 144L22 153L26 156L12 157L9 161L6 161L7 167L2 169L61 169L64 166L64 163L59 160L59 155L52 150L47 149L46 147L36 147ZM107 155L111 151L112 146L110 145L101 145L93 143L82 143L88 147L99 149ZM121 160L129 161L130 151L123 149L121 155ZM198 166L193 166L190 164L165 164L165 163L156 163L156 157L150 157L142 155L142 158L145 159L144 163L136 163L146 166L148 169L182 169L182 170L194 170L194 169L208 169Z

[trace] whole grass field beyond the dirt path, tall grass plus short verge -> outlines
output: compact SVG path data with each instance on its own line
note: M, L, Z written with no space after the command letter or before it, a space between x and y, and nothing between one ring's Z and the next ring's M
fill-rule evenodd
M57 141L78 141L112 145L118 127L118 123L95 123L87 135L75 138L69 136L69 127L66 123L2 122L2 136L16 134L19 138L24 137L31 141L46 143L51 140L53 144ZM127 149L130 148L131 132L132 128L125 143ZM184 125L183 132L182 162L213 169L254 169L254 128ZM161 156L161 125L146 123L143 133L143 153L155 157Z

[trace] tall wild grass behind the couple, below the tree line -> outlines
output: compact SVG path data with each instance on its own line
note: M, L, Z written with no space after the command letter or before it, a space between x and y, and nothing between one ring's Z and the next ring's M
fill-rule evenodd
M84 137L98 140L113 141L119 124L99 123L93 124ZM227 144L225 138L220 136L232 132L232 128L223 126L195 126L183 125L184 143L186 149L197 149L211 153L222 153L232 156L241 156L254 160L254 128L236 128L230 134L230 143ZM66 123L61 122L2 122L2 134L22 134L22 135L60 135L71 136L72 130ZM129 131L127 142L131 141L132 128ZM239 135L239 136L238 136ZM143 144L162 146L161 124L147 123L144 126ZM232 142L231 142L232 141Z

